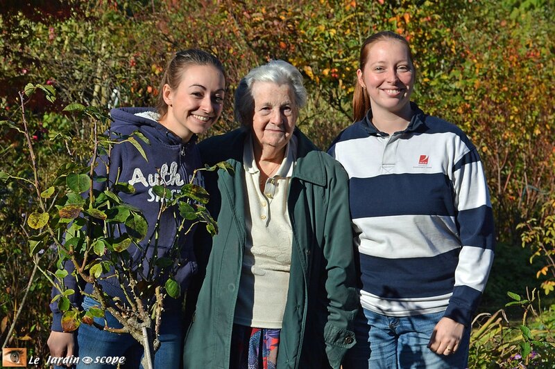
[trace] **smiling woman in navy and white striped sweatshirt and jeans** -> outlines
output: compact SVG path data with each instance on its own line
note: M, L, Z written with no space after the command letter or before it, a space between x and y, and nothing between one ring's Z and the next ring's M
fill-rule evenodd
M477 149L411 102L407 40L361 47L355 123L330 154L350 181L361 312L343 368L466 368L495 235Z

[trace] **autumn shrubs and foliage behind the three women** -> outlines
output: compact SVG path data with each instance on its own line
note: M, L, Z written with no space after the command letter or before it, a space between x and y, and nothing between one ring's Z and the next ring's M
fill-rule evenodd
M62 113L65 105L151 106L171 54L198 47L227 71L225 109L210 134L237 127L232 96L240 78L280 58L305 77L309 104L298 125L325 149L352 123L362 40L377 30L404 35L416 59L413 100L472 138L490 186L498 247L470 368L516 367L522 342L554 340L554 15L549 0L1 1L0 120L21 122L18 91L28 82L55 87L55 103L37 93L26 105L48 181L69 156L90 156L92 125ZM31 177L22 136L0 130L0 171ZM71 137L69 145L51 140L59 132ZM50 285L35 262L49 269L54 259L49 252L35 262L28 256L33 230L25 224L35 207L24 183L1 183L0 341L47 357ZM507 291L533 301L505 308ZM507 319L488 323L499 309ZM555 349L531 345L540 357L522 365L553 368Z

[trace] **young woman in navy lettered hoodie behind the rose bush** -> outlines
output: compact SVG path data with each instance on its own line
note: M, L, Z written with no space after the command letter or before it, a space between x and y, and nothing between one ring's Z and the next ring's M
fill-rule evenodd
M162 258L176 237L179 238L178 242L182 247L180 258L176 262L180 269L175 278L180 283L181 291L187 290L191 275L196 271L192 244L194 229L187 235L178 235L178 225L182 218L177 210L167 210L160 219L157 246L148 245L148 240L154 239L151 236L154 234L160 209L160 198L154 194L152 188L156 184L163 184L169 190L179 190L189 182L194 170L201 167L196 135L205 133L218 120L223 108L224 93L225 77L219 60L205 51L189 49L176 53L168 63L162 77L156 109L125 107L112 109L110 112L113 119L110 127L112 137L133 135L133 132L138 131L148 138L149 144L137 140L148 161L128 142L114 145L110 154L108 181L128 183L135 188L133 194L119 192L117 195L127 204L142 210L148 222L148 233L139 242L139 246L147 250L143 264L145 269L148 269L148 260L152 259L153 253L156 252L158 258ZM96 174L106 174L105 166L103 163L97 165ZM203 186L203 177L199 173L196 174L195 182ZM187 228L189 227L186 225L183 229ZM138 248L130 247L128 251L136 260L143 254ZM71 263L66 263L67 269L71 269L69 264ZM80 290L74 277L68 276L65 282L67 288ZM109 296L125 300L117 278L106 278L101 285ZM83 288L85 293L92 292L92 285L85 285ZM57 289L53 289L53 296L58 293ZM99 305L89 296L82 298L76 295L72 303L81 305L83 309ZM164 300L159 336L161 344L153 359L155 368L179 366L184 332L181 306L182 298L167 297ZM58 303L51 304L51 310L53 323L48 345L52 357L126 357L125 368L139 368L143 348L130 334L105 332L86 324L80 325L76 332L62 332L62 313L58 310ZM108 312L105 319L109 327L121 327ZM98 323L104 325L104 319L100 318ZM83 363L78 363L77 368L82 365ZM114 368L109 364L94 365L95 368Z

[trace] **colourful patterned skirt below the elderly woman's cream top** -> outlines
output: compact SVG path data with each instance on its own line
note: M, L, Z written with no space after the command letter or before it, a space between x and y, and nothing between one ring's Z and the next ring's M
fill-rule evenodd
M230 369L275 369L280 331L234 324Z

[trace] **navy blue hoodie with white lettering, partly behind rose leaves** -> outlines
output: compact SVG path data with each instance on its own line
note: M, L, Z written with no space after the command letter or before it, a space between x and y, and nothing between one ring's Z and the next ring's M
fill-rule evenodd
M177 228L182 221L176 207L164 211L160 219L157 246L153 246L154 237L151 236L154 233L157 215L160 210L160 198L153 193L153 186L155 184L163 186L165 183L169 190L179 190L185 183L189 183L194 170L201 166L200 155L196 146L196 136L193 136L188 143L182 143L180 137L155 120L135 115L146 111L153 111L153 109L128 107L110 111L113 119L110 127L112 138L116 138L119 136L118 134L131 135L133 132L139 131L148 138L150 144L146 144L140 138L137 138L137 142L143 147L148 161L131 143L125 142L114 145L110 154L110 175L108 178L110 183L119 181L129 183L135 187L135 193L133 194L118 192L117 195L126 204L142 210L142 214L148 222L146 237L139 243L140 246L147 247L148 240L152 238L151 245L148 245L146 249L146 258L143 262L145 270L148 269L148 262L155 251L159 257L167 254L175 240ZM100 162L96 166L95 172L97 175L105 175L105 164ZM117 178L118 172L119 178ZM204 184L200 172L196 174L195 183L200 186ZM95 184L97 189L101 189L102 186L106 186L105 182ZM185 224L183 232L187 231L189 225L190 223ZM193 234L194 228L187 235L181 235L178 241L181 246L181 254L179 260L175 260L179 265L175 278L180 283L181 291L187 289L191 275L196 272ZM142 251L133 245L128 248L128 252L135 261L142 257ZM71 272L72 266L69 264L71 262L66 262L66 269ZM76 294L70 298L71 303L75 306L80 305L79 289L75 278L67 276L65 284L67 288L76 291ZM125 300L117 278L102 280L101 285L103 291L108 295L119 296ZM85 292L92 292L92 285L85 285ZM59 294L59 291L53 289L52 296L57 294ZM164 309L166 310L178 309L180 305L181 299L167 298L164 301ZM61 332L62 313L58 310L58 302L52 303L50 307L53 312L52 330Z

